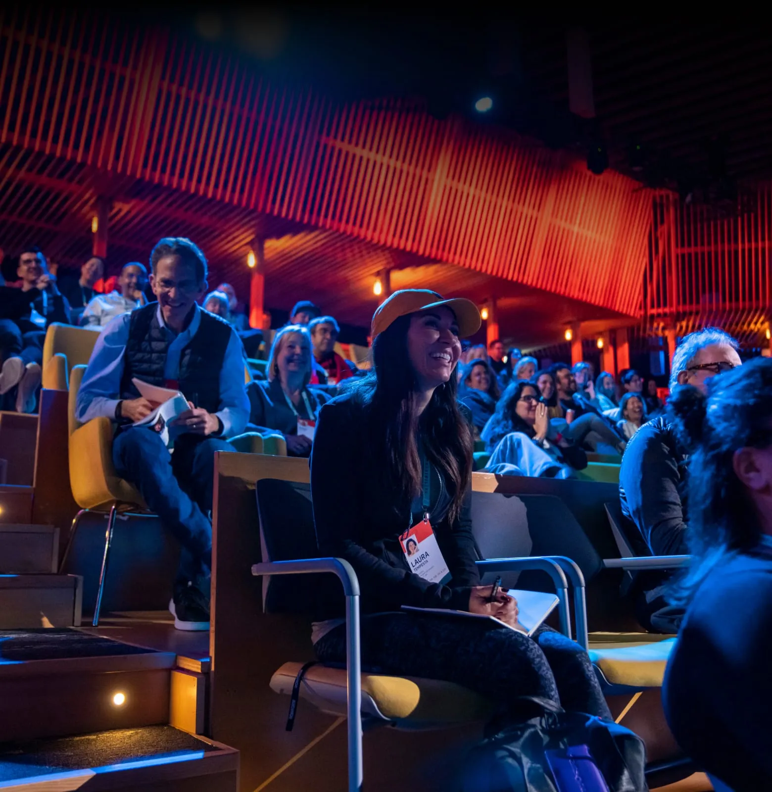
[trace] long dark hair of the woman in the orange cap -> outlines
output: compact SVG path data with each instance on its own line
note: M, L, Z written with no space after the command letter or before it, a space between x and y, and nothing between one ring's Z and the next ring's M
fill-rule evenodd
M373 339L370 373L346 390L352 390L367 407L375 459L384 460L395 492L411 499L420 493L423 483L417 443L419 435L423 438L426 455L443 475L451 496L448 519L452 523L461 512L472 476L472 432L456 401L455 369L418 414L416 373L408 362L410 315L396 319Z

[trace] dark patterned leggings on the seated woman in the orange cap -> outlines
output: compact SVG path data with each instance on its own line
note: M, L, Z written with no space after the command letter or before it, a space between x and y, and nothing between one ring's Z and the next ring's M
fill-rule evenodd
M505 705L540 696L565 710L610 720L588 654L547 626L528 638L474 619L382 613L361 620L362 667L392 676L425 676L454 682ZM314 646L322 662L346 660L346 626Z

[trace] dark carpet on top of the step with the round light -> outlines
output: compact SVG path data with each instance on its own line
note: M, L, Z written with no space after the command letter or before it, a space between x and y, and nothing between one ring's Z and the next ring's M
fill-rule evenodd
M71 657L111 657L146 654L153 649L129 646L101 635L88 635L67 627L40 630L0 630L0 664Z

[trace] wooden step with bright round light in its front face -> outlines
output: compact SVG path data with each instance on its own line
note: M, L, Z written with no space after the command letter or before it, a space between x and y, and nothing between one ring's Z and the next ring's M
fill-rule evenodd
M0 743L168 724L175 664L80 630L0 630Z

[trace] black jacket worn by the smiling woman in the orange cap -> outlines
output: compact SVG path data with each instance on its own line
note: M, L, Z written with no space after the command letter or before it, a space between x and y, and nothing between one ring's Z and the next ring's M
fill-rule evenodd
M344 394L321 408L311 451L321 554L344 558L353 566L363 613L397 611L401 605L466 610L470 587L480 584L471 485L453 524L447 519L447 503L432 511L432 528L452 580L448 585L425 581L409 571L398 541L412 522L410 499L386 481L385 461L371 453L368 432L367 406L356 394Z

